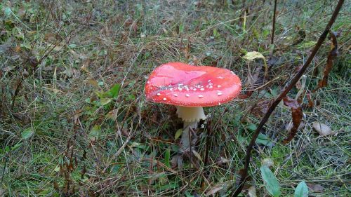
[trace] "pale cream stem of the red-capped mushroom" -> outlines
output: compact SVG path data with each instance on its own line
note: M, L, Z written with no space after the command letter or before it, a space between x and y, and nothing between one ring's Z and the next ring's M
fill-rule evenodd
M182 134L182 149L183 151L190 150L190 131L195 130L197 124L202 119L206 119L204 109L202 107L183 107L176 106L179 118L183 120L183 134ZM191 129L190 129L191 128Z

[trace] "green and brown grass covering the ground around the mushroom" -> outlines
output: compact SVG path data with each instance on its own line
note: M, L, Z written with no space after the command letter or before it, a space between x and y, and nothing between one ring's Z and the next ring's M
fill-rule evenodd
M335 4L279 1L270 58L270 2L247 1L245 18L241 3L229 1L1 2L0 196L229 195L265 104L309 55ZM311 196L350 193L350 5L333 25L339 55L329 86L311 94L319 104L304 109L305 127L282 144L291 115L281 105L262 131L272 146L256 145L247 183L258 196L269 195L264 158L274 163L282 196L293 196L302 180L322 186ZM310 90L328 50L326 41L306 73ZM178 155L182 124L172 107L145 100L148 74L164 62L192 62L231 69L246 84L247 51L265 55L269 83L259 74L251 97L206 108L198 154ZM250 62L251 72L262 66ZM319 137L314 121L337 135Z

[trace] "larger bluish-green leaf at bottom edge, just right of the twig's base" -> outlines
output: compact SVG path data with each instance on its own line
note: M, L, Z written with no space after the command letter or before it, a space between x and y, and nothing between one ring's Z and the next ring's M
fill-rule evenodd
M267 166L263 165L260 168L261 175L263 178L263 181L265 181L265 188L267 189L268 192L274 197L280 196L280 186L277 178L274 176L273 172L270 171L270 168L267 168Z

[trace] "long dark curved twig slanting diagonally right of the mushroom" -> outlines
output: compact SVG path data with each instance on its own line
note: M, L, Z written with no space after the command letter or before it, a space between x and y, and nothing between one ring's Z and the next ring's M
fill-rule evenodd
M260 121L260 124L258 125L255 133L253 133L253 136L251 138L250 144L249 144L249 146L246 149L245 165L244 165L243 173L241 175L239 186L237 187L237 189L234 190L234 193L232 194L232 196L235 196L235 197L238 196L239 193L241 193L241 191L242 191L242 189L244 187L244 184L245 184L246 179L247 179L247 177L246 177L247 171L249 169L249 163L250 163L250 158L251 158L251 150L253 149L253 144L255 144L255 141L256 141L256 139L258 137L258 134L260 133L260 130L263 128L265 123L268 121L268 118L270 118L270 115L272 114L274 109L277 107L279 102L282 101L282 99L286 96L286 94L289 93L291 88L293 88L293 86L295 86L295 84L298 82L300 77L303 76L303 74L305 73L307 67L310 65L310 63L312 62L314 56L316 55L316 53L318 52L319 48L322 46L322 43L326 39L326 36L328 35L329 30L331 29L331 26L335 22L335 20L336 20L336 18L338 16L338 13L340 11L340 8L343 6L343 3L344 3L344 0L339 0L338 1L338 4L336 5L336 8L335 8L335 10L333 12L333 15L331 16L331 19L329 20L328 25L326 25L326 28L324 29L324 32L321 34L321 36L319 36L319 39L318 39L316 45L314 46L310 57L308 57L308 59L306 60L305 64L303 64L303 67L298 71L298 73L295 76L293 76L293 79L291 79L289 85L286 86L286 88L284 88L282 93L274 100L274 102L272 102L272 105L267 110L267 113L265 114L265 116L263 116L262 121Z

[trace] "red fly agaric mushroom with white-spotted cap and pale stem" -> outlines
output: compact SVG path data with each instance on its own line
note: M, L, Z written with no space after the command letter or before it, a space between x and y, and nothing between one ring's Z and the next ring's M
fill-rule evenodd
M229 102L239 95L239 77L228 69L169 62L154 69L147 79L145 95L153 102L175 105L182 118L183 149L190 147L190 128L206 119L202 107Z

